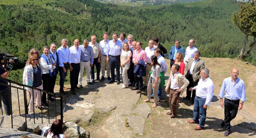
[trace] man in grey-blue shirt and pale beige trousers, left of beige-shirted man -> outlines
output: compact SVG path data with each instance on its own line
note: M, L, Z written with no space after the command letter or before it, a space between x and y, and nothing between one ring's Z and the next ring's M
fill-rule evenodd
M84 44L79 45L79 48L81 49L81 56L80 56L80 72L78 77L78 85L79 88L82 88L82 79L83 79L83 73L84 68L86 69L86 82L87 84L92 85L93 83L90 82L90 70L92 67L92 63L94 61L93 59L93 49L89 45L89 39L84 39Z

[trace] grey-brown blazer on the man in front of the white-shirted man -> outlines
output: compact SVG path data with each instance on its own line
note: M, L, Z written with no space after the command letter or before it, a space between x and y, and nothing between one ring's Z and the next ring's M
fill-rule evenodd
M184 71L184 75L186 76L186 78L189 75L189 70L191 68L192 62L194 60L194 57L191 57L188 59L188 65ZM193 80L194 82L196 82L199 77L200 77L200 71L204 68L204 61L202 61L200 58L198 58L198 61L196 62L196 65L194 66L193 72L192 72L192 76L193 76Z

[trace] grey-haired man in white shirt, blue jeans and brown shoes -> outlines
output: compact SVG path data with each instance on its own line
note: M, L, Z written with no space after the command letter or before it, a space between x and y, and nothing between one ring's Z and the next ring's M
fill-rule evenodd
M214 85L209 77L209 69L203 68L200 71L200 75L201 79L198 82L198 85L189 88L189 91L196 90L196 97L194 101L194 117L193 120L188 121L190 124L199 122L199 125L194 128L195 130L202 130L204 128L206 120L206 109L212 100L214 90ZM198 120L199 114L201 116L200 121Z

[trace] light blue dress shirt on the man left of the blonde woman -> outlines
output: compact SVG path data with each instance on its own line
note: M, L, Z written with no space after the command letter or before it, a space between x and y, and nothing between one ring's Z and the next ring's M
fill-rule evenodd
M114 43L113 40L110 40L108 42L109 45L109 52L108 55L116 56L121 55L122 52L122 42L117 40L116 43Z

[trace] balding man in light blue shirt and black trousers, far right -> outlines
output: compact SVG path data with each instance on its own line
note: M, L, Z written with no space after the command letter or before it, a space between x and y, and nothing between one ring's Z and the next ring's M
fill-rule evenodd
M237 77L239 75L238 69L232 69L230 74L231 77L224 79L219 95L220 106L224 107L225 114L225 119L221 123L221 126L225 126L226 129L224 136L229 135L230 121L236 117L238 110L243 108L244 101L246 101L244 81ZM225 97L224 103L223 97Z

